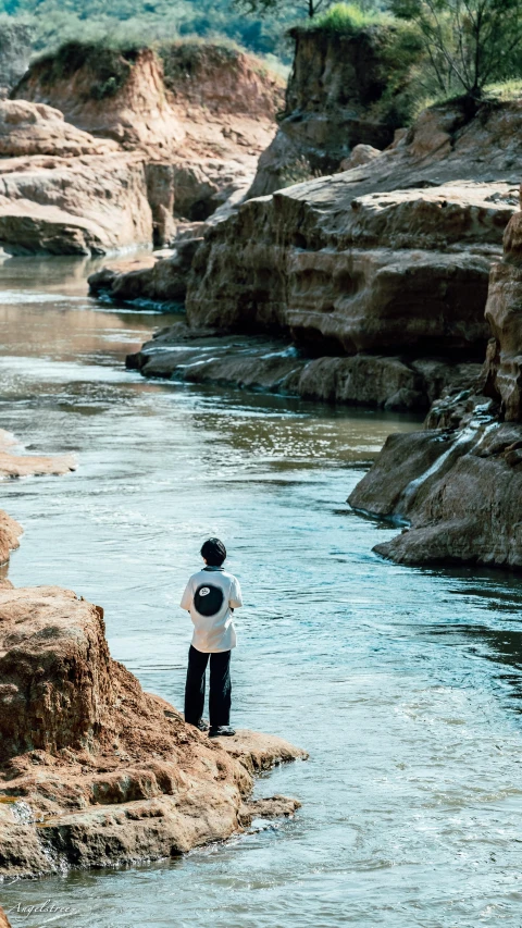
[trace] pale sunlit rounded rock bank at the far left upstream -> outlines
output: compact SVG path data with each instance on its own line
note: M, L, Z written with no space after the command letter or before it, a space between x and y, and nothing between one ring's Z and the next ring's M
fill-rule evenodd
M41 103L0 102L0 247L103 255L152 239L142 157Z

